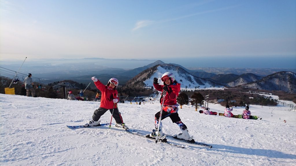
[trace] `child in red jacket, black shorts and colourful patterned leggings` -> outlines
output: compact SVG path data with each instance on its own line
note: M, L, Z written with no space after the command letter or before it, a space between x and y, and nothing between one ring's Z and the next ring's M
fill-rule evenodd
M161 77L161 81L163 81L163 85L158 84L158 79L154 78L153 80L153 86L156 90L162 92L161 94L166 94L164 103L163 103L163 110L162 110L162 117L161 120L170 117L173 123L176 123L182 133L178 135L174 135L174 137L177 137L178 139L185 139L185 140L192 140L193 136L190 137L187 126L181 121L179 115L178 115L178 104L177 104L177 97L180 92L181 84L177 83L175 80L175 76L171 72L166 72ZM160 105L162 105L163 102L163 95L160 97ZM156 131L152 132L151 134L147 135L152 138L156 138L157 135L161 138L163 137L163 131L162 131L162 123L160 122L158 126L158 120L160 118L160 111L155 114L155 129ZM159 127L159 132L157 133L157 129Z

